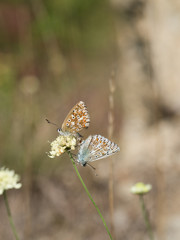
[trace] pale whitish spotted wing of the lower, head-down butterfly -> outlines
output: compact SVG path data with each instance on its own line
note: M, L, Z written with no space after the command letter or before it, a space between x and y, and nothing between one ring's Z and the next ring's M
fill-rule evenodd
M120 148L118 145L111 142L109 139L101 135L94 135L91 137L91 141L88 146L87 161L92 162L108 157L119 150Z

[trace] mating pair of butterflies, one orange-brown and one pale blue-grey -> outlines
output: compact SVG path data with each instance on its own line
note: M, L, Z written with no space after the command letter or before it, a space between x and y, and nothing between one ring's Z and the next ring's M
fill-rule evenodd
M76 138L79 138L81 137L79 132L83 128L88 128L89 123L90 117L86 105L80 101L68 113L62 124L62 128L59 128L58 132L63 136L74 135ZM80 144L76 161L82 166L86 166L88 162L105 158L119 150L117 144L101 135L89 136Z

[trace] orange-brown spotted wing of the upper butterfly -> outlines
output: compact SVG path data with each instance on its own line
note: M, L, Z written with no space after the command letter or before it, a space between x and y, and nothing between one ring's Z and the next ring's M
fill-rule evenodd
M63 132L76 133L83 128L88 128L90 117L84 102L78 102L68 113L62 124Z

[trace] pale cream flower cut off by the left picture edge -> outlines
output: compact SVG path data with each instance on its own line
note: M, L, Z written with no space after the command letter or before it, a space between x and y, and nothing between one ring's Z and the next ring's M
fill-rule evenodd
M8 189L19 189L22 186L21 183L18 183L19 180L20 177L15 174L14 170L5 167L0 168L0 195Z

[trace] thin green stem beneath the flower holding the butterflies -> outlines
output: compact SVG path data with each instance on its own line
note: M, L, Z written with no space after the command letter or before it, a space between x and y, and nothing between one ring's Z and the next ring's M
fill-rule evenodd
M101 220L102 220L102 222L103 222L103 224L104 224L104 226L105 226L105 228L106 228L106 231L107 231L110 239L112 240L112 236L111 236L110 231L109 231L109 229L108 229L108 227L107 227L107 225L106 225L106 222L105 222L105 220L104 220L104 218L103 218L103 216L102 216L99 208L97 207L96 203L94 202L91 194L89 193L89 191L88 191L88 189L87 189L87 187L86 187L86 185L85 185L85 183L84 183L84 181L83 181L83 179L82 179L82 177L81 177L81 175L80 175L80 173L79 173L79 171L78 171L78 169L77 169L77 167L76 167L76 164L75 164L75 162L74 162L74 159L73 159L73 157L72 157L71 152L68 152L68 154L69 154L69 157L70 157L70 159L71 159L71 161L72 161L73 167L74 167L74 169L75 169L75 171L76 171L76 174L77 174L79 180L81 181L81 183L82 183L82 185L83 185L83 187L84 187L84 189L85 189L85 191L86 191L89 199L91 200L91 202L92 202L93 205L95 206L95 208L96 208L96 210L97 210L97 212L98 212L98 214L99 214L99 216L100 216L100 218L101 218Z

